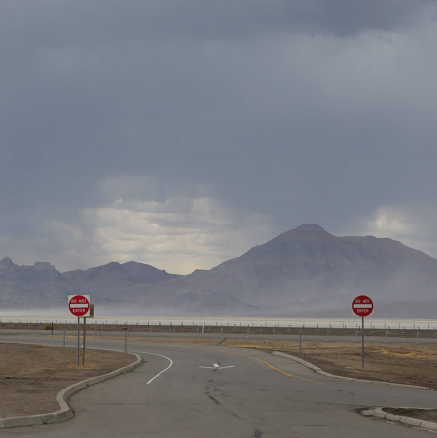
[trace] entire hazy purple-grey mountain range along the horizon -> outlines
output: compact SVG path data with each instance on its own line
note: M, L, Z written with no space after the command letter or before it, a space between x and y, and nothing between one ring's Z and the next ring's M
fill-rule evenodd
M43 300L64 306L69 293L89 293L119 314L348 317L363 294L374 301L374 317L434 318L436 284L437 260L427 254L388 238L336 237L316 224L186 276L135 261L63 274L50 263L0 261L3 308Z

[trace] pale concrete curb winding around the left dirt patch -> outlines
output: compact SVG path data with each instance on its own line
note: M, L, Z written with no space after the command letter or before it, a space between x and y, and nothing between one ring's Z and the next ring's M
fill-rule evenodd
M56 345L55 345L56 346ZM98 350L110 350L111 349L98 349ZM118 370L112 371L107 374L103 374L97 377L91 377L89 379L83 380L81 382L75 383L74 385L70 385L65 389L62 389L58 392L56 396L56 401L59 403L59 411L43 413L39 415L29 415L27 417L8 417L8 418L0 418L0 428L2 427L16 427L16 426L35 426L37 424L49 424L49 423L59 423L60 421L68 420L73 417L73 411L70 409L70 406L67 405L66 401L68 397L71 396L74 392L79 391L80 389L86 388L87 386L94 385L94 383L98 383L112 377L118 376L119 374L124 374L127 371L133 370L140 366L144 359L136 353L134 354L137 357L137 360L126 367L119 368Z

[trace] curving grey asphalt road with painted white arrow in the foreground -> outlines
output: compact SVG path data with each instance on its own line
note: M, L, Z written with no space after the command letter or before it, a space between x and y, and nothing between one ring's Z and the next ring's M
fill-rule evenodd
M19 339L2 336L0 341ZM22 339L62 345L62 338ZM66 343L77 345L71 338ZM121 350L124 340L90 337L87 346ZM434 391L325 378L292 360L252 349L130 338L128 350L147 362L71 396L72 419L0 429L0 438L435 437L356 412L368 406L437 408Z

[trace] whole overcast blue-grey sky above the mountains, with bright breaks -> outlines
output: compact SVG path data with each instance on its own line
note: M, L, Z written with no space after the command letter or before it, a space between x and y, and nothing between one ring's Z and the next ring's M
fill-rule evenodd
M301 223L437 257L437 8L3 0L0 258L186 274Z

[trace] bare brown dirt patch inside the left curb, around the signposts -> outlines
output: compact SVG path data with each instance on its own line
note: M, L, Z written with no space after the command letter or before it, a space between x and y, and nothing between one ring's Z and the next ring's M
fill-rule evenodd
M77 368L75 348L9 343L0 343L0 355L0 418L57 411L61 389L136 360L133 354L87 350L85 367Z

